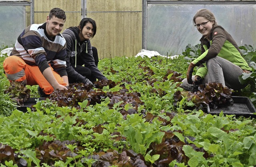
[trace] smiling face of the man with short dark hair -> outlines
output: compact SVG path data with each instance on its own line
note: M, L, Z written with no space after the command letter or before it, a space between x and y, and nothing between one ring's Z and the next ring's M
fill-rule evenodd
M46 19L46 32L50 38L54 38L60 31L62 31L66 20L59 19L53 16L51 19L47 16Z

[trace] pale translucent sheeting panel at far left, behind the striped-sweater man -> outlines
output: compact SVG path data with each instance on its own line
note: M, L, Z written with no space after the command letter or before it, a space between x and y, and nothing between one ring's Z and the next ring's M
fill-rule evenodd
M0 46L10 46L26 28L25 6L0 5Z

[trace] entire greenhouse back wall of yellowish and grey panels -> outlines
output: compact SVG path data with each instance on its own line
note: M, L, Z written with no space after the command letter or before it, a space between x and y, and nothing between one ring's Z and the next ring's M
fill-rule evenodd
M186 45L199 43L192 18L200 8L212 10L238 45L256 43L255 0L0 0L0 45L14 44L26 26L45 22L54 7L66 12L64 29L77 26L84 17L96 21L97 34L91 41L100 58L130 57L140 49L181 54Z

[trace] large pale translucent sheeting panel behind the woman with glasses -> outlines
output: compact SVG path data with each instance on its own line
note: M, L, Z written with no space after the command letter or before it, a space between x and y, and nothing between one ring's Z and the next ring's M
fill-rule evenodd
M199 44L202 34L194 27L196 11L206 8L232 35L238 46L256 44L256 4L148 4L147 50L179 55L188 44Z

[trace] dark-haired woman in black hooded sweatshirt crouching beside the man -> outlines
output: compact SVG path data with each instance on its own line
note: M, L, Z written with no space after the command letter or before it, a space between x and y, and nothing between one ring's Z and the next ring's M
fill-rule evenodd
M66 39L66 71L69 83L92 84L107 79L98 69L98 52L92 47L90 38L96 34L96 23L91 18L83 18L79 26L65 29L62 33Z

